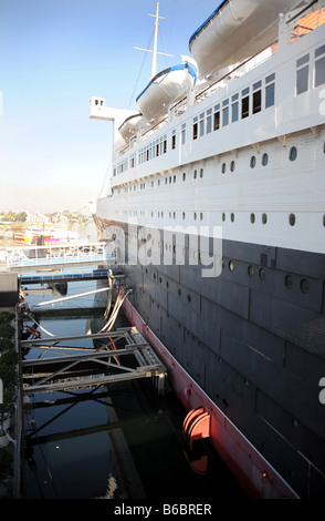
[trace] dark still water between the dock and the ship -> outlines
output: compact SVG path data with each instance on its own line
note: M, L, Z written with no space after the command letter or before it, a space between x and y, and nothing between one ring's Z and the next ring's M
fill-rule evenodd
M87 292L91 286L94 283L70 283L69 294ZM27 302L32 307L52 298L51 292L38 292L30 293ZM94 298L70 300L65 307L75 306L80 313L94 304ZM46 308L63 307L62 303ZM48 315L40 319L46 330L61 336L84 334L90 328L97 333L104 321L102 311L97 316ZM87 343L78 341L78 347L87 347ZM50 356L41 353L31 349L25 357ZM159 397L149 380L30 397L24 415L24 497L190 501L245 498L208 440L197 442L190 452L184 446L185 416L172 391Z

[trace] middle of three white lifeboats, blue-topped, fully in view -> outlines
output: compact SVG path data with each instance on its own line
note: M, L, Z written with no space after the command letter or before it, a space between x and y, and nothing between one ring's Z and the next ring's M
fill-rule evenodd
M187 95L196 80L197 71L190 63L175 65L156 74L136 99L145 120L151 122L164 118L170 103Z

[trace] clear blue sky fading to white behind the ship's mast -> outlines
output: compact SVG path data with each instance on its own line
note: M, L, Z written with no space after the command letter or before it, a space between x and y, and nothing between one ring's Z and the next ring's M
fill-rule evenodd
M160 0L157 72L190 55L218 0ZM105 190L112 123L93 95L137 110L156 0L8 0L0 4L0 212L78 212Z

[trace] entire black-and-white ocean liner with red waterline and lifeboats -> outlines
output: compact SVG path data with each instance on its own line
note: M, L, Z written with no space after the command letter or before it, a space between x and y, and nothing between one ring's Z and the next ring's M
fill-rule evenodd
M124 310L252 497L325 497L324 4L219 2L137 112L90 102Z

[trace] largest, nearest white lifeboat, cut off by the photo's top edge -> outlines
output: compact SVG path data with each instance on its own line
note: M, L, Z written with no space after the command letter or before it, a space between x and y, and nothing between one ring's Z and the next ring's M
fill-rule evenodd
M277 39L280 13L297 0L223 0L189 40L199 78L259 53Z

